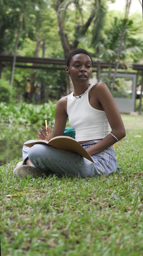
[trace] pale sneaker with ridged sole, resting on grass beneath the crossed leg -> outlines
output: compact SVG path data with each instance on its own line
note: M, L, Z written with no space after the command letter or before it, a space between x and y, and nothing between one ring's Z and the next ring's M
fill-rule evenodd
M25 177L27 175L31 176L31 177L40 177L43 176L43 174L47 174L47 172L45 170L41 170L41 169L37 169L33 166L30 165L21 165L21 166L17 166L14 171L13 171L13 175L14 177Z

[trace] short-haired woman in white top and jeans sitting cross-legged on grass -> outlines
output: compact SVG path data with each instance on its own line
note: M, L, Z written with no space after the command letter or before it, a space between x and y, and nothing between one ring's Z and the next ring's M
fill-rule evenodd
M76 153L47 145L24 146L23 162L17 164L14 176L56 173L94 177L116 171L117 160L112 145L126 132L106 84L89 84L92 63L90 54L84 49L75 49L67 56L65 71L72 79L74 92L57 103L52 138L63 135L69 117L69 124L76 132L75 139L92 156L94 163ZM37 138L49 141L51 129L42 126Z

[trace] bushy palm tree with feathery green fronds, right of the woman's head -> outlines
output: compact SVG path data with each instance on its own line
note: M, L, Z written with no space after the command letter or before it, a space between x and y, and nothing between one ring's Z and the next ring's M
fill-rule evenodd
M126 26L126 29L125 29ZM124 29L124 41L120 44L120 38ZM101 58L108 61L109 64L115 63L114 81L116 78L117 69L119 64L123 67L128 67L130 59L133 62L137 60L138 54L143 52L143 42L141 39L134 38L136 27L133 26L133 21L129 19L114 18L112 27L106 31L108 38L104 42L104 51L101 54ZM132 56L132 59L131 59ZM110 81L111 68L109 69L109 81ZM111 92L113 92L114 81L112 84Z

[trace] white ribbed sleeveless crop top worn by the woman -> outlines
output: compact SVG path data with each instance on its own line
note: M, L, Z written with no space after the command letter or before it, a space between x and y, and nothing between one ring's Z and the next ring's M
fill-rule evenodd
M73 92L67 97L69 124L75 130L76 141L103 139L110 133L110 125L105 111L94 109L88 98L91 84L81 98L75 98Z

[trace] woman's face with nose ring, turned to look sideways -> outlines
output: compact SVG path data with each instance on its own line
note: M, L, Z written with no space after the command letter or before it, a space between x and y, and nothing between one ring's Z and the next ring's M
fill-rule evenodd
M69 68L66 72L71 76L73 83L87 83L92 74L92 61L90 56L84 53L76 54L70 61Z

